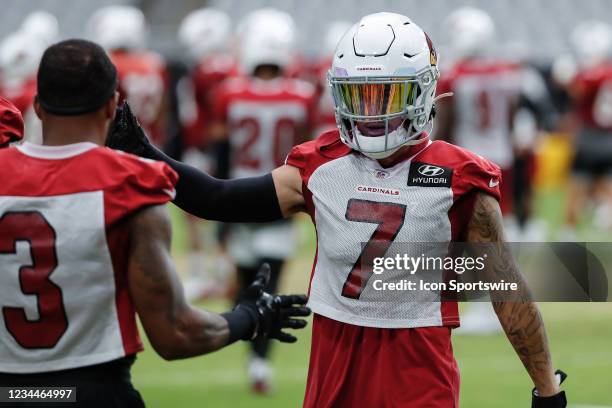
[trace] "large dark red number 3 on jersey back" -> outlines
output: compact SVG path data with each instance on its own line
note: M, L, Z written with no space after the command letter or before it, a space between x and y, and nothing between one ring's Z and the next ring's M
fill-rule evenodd
M15 254L17 241L30 244L32 264L19 269L19 286L25 295L36 296L39 317L28 320L23 308L2 307L8 332L27 349L53 348L68 329L62 291L49 279L57 267L55 239L55 230L39 212L8 212L0 217L0 255Z

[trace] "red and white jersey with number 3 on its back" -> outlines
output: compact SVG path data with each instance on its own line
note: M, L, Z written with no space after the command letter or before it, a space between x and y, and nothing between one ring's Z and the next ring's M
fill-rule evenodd
M129 230L170 201L166 164L92 143L0 150L0 372L34 373L142 350L128 291Z

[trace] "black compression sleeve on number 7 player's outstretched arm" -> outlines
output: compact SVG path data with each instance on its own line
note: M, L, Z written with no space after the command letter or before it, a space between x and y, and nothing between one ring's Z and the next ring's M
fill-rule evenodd
M219 180L149 145L145 156L166 162L179 175L174 204L200 218L225 222L270 222L283 218L272 174Z

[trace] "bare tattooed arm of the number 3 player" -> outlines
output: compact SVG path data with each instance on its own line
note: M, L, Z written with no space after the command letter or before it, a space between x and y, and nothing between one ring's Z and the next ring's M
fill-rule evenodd
M130 221L130 295L153 348L165 359L205 354L229 338L222 316L185 300L170 258L171 234L164 206L145 208Z

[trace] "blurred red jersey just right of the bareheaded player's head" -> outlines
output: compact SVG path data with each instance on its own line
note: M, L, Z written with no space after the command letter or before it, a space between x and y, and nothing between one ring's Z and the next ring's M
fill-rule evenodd
M164 103L168 89L164 60L151 51L116 51L110 57L117 67L121 99L127 99L147 134L162 145L166 137Z

